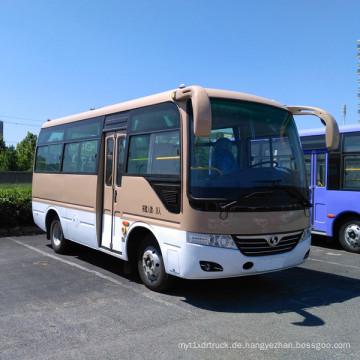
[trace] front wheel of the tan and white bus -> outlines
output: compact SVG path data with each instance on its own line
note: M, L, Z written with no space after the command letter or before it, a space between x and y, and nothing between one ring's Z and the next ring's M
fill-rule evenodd
M173 284L174 278L165 272L160 247L151 235L145 236L140 243L138 271L141 281L150 290L163 292Z

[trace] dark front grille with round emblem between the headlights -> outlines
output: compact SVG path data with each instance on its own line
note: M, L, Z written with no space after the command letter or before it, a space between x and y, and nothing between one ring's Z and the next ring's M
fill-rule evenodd
M245 256L266 256L291 251L298 244L302 231L271 235L235 235L234 241Z

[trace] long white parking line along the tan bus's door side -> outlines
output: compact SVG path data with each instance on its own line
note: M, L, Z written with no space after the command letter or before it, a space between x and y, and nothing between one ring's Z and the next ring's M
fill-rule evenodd
M184 312L187 312L187 313L192 313L190 310L184 309L183 307L180 307L180 306L178 306L178 305L176 305L176 304L172 304L172 303L170 303L170 302L168 302L168 301L165 301L165 300L161 299L161 298L159 297L159 295L156 294L156 293L153 293L153 292L151 292L151 293L144 293L144 292L142 292L142 291L134 288L133 286L131 286L131 285L126 285L126 284L122 283L121 281L118 281L118 280L116 280L116 279L113 279L113 278L110 277L110 276L101 274L100 272L95 271L95 270L90 270L90 269L88 269L88 268L86 268L86 267L84 267L84 266L75 264L75 263L73 263L73 262L71 262L71 261L69 261L69 260L63 259L63 258L61 258L61 257L59 257L59 256L56 256L56 255L53 255L53 254L49 254L49 253L47 253L47 252L45 252L45 251L42 251L42 250L40 250L40 249L37 249L37 248L35 248L35 247L33 247L33 246L29 245L29 244L23 243L22 241L15 240L15 239L13 239L13 238L11 238L11 237L8 237L7 239L9 239L9 240L17 243L18 245L25 246L25 247L27 247L28 249L31 249L31 250L33 250L33 251L36 251L37 253L39 253L39 254L41 254L41 255L44 255L44 256L47 256L47 257L49 257L49 258L51 258L51 259L60 261L60 262L62 262L62 263L64 263L64 264L67 264L67 265L76 267L77 269L80 269L80 270L86 271L86 272L88 272L88 273L94 274L94 275L96 275L96 276L98 276L98 277L100 277L100 278L102 278L102 279L104 279L104 280L110 281L110 282L112 282L112 283L114 283L114 284L116 284L116 285L119 285L119 286L123 287L123 288L132 290L132 291L136 292L137 294L145 297L146 299L151 299L151 300L153 300L153 301L155 301L155 302L161 303L162 305L166 305L166 306L169 306L169 307L176 307L176 308L180 309L181 311L184 311Z

